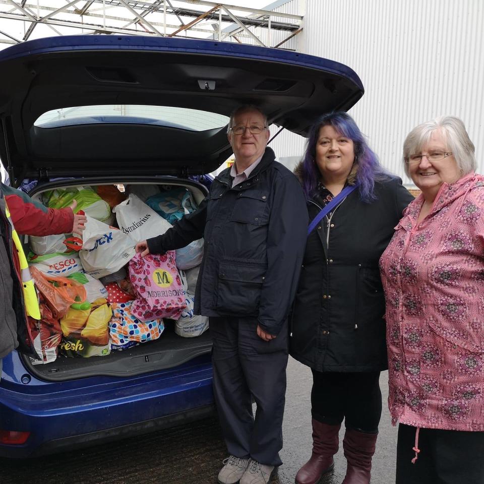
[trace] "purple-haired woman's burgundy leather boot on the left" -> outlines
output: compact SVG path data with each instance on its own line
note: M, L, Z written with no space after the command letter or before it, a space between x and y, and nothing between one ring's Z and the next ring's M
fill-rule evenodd
M296 484L316 484L321 477L334 468L333 455L338 452L339 428L313 418L313 453L296 474Z

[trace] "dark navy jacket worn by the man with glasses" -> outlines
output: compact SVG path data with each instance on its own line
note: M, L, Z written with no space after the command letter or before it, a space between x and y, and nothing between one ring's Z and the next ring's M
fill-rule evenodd
M299 181L266 148L247 180L232 187L230 168L223 170L198 210L148 247L164 253L204 237L195 314L256 317L277 335L296 291L307 226Z

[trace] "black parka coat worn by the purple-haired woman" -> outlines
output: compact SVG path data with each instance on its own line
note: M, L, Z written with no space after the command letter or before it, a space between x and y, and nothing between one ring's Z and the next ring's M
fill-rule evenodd
M290 354L319 372L387 368L378 262L413 200L400 178L375 183L377 200L351 192L309 235L291 314ZM321 211L308 201L310 220Z

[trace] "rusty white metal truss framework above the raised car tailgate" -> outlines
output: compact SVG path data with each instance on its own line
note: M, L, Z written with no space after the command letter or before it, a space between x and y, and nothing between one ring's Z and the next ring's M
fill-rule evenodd
M0 48L73 34L210 38L284 48L301 32L303 17L272 10L283 3L261 10L205 0L0 0Z

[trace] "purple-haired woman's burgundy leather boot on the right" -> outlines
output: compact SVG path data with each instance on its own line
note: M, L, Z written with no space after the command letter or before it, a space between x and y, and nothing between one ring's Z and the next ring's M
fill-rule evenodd
M346 475L342 484L370 484L372 457L378 434L365 434L346 429L343 452L346 457Z

